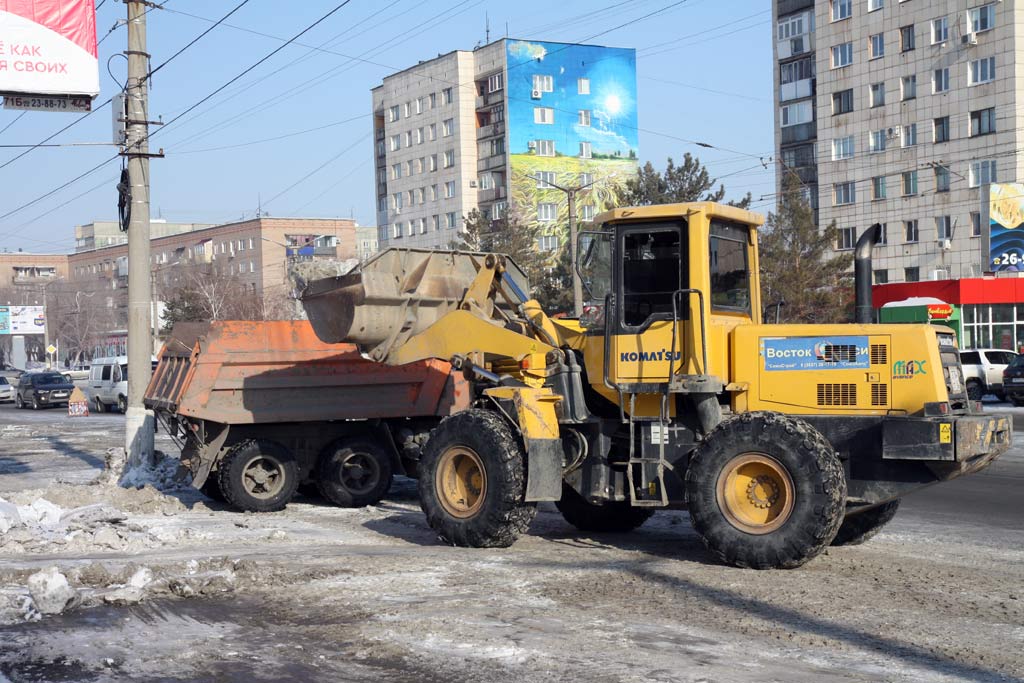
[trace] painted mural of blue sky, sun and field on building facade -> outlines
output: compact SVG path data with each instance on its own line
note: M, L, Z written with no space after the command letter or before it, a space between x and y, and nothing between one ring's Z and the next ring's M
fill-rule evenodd
M636 51L534 41L508 41L506 49L510 199L522 218L562 234L566 197L546 181L593 181L578 196L586 221L616 206L636 173Z

